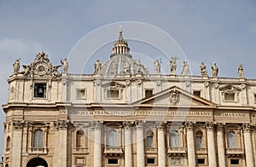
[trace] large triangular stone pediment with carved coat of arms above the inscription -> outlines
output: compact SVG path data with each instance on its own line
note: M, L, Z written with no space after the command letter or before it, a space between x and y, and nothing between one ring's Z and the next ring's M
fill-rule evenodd
M207 101L189 91L172 86L155 95L135 102L140 107L216 107L212 101Z

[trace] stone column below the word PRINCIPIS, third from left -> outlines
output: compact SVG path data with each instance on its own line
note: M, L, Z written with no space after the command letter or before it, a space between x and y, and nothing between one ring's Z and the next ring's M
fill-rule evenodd
M102 124L96 122L94 127L94 167L102 167Z

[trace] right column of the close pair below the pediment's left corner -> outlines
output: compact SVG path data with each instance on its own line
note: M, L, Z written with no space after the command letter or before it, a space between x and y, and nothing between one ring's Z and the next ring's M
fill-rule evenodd
M145 148L143 135L143 122L137 122L137 167L145 166Z

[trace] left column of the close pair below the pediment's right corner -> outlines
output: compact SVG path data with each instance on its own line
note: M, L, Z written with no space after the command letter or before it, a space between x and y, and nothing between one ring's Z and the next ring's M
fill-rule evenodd
M207 148L208 148L208 159L209 167L216 167L216 152L215 152L215 142L213 134L213 123L206 123L207 128Z

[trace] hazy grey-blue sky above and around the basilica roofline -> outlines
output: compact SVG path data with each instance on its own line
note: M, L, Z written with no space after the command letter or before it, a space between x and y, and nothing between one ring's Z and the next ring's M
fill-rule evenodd
M20 64L30 64L43 49L54 65L67 57L69 72L92 73L96 58L102 62L108 60L119 26L124 37L131 39L128 42L134 59L142 59L144 64L148 65L148 57L155 60L163 55L163 59L179 55L174 49L163 52L167 45L158 40L166 34L182 53L177 66L181 68L182 61L188 60L193 75L200 75L203 61L208 73L211 63L216 62L219 77L237 78L237 66L242 64L245 78L256 78L255 9L254 0L0 0L0 103L8 102L7 79L13 72L15 59L20 59ZM131 28L132 25L145 29L137 31L137 26ZM145 33L138 35L143 30ZM90 45L83 45L84 40L104 43L95 46L98 49L91 56ZM84 48L80 56L87 59L82 71L76 68L79 57L73 56L78 46ZM163 72L168 72L166 62L162 62ZM0 111L0 154L4 117Z

